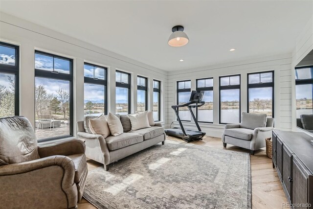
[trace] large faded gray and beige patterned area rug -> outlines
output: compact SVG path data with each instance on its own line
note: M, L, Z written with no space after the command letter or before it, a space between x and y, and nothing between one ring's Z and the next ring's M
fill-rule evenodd
M84 197L99 209L249 209L250 156L166 140L91 170Z

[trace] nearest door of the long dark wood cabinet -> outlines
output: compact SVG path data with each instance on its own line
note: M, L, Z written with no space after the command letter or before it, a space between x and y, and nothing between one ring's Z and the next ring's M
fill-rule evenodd
M308 203L308 175L302 163L295 156L292 158L291 203L299 206L295 209L307 209L301 206L305 206Z

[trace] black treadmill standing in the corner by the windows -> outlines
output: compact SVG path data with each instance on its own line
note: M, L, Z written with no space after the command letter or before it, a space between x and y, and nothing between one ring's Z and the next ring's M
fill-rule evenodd
M201 131L199 123L198 123L194 113L192 112L191 108L201 107L202 105L205 104L205 102L202 101L203 94L204 94L203 91L192 91L192 93L190 95L189 102L182 104L182 105L172 105L172 108L173 108L173 110L177 116L180 128L175 127L175 128L165 129L165 133L167 136L178 137L178 138L181 138L187 142L202 140L202 138L205 135L205 132ZM196 130L185 130L184 129L184 127L181 123L181 120L179 118L179 114L178 114L178 110L180 107L187 107L188 108L192 118L194 119L194 121L196 123L198 131L196 131Z

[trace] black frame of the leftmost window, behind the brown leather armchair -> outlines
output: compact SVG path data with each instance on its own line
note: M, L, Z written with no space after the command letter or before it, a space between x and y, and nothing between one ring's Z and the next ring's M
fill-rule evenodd
M20 46L0 42L1 46L15 49L15 65L0 64L0 73L14 74L14 115L20 115Z

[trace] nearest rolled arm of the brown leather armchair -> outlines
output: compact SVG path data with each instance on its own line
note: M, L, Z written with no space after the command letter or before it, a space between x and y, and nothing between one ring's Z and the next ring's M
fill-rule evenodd
M77 205L74 175L75 165L66 156L2 165L1 206L45 208L49 204L51 208L74 208Z

